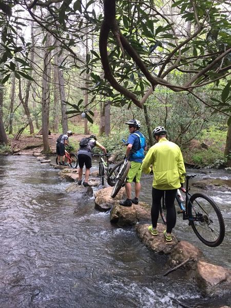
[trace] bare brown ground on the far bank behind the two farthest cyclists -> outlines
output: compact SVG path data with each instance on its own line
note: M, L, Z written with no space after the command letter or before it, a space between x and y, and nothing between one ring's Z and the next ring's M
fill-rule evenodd
M60 133L51 133L48 136L51 152L56 151L56 139L60 136ZM79 141L86 137L83 134L73 134L69 137L71 144L78 144ZM33 152L41 152L43 150L43 136L21 136L19 140L10 139L8 140L11 144L11 149L14 153L21 153L21 155L32 155Z

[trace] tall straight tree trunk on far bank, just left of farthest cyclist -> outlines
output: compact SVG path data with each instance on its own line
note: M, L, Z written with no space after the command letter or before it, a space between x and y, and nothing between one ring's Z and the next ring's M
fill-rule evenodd
M50 36L47 36L46 47L50 45ZM50 152L48 140L48 114L49 114L49 93L48 93L48 66L50 51L45 49L43 60L43 82L42 82L42 129L43 129L43 152Z

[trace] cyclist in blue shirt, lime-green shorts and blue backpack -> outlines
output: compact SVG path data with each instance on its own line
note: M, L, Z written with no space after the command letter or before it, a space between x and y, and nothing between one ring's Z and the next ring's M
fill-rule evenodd
M129 120L125 124L128 125L129 137L127 141L126 158L131 162L131 167L127 174L125 190L127 199L120 201L120 205L131 206L132 203L139 203L140 196L140 178L141 178L141 165L144 158L144 151L147 150L145 137L140 132L140 121L136 119ZM135 183L135 197L131 199L131 182Z

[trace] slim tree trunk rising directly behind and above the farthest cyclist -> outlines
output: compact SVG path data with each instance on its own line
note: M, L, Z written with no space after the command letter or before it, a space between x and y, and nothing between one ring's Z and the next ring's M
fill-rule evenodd
M54 66L53 66L53 84L54 84L54 106L53 106L53 131L59 131L59 72L58 72L58 60L57 54L54 55Z

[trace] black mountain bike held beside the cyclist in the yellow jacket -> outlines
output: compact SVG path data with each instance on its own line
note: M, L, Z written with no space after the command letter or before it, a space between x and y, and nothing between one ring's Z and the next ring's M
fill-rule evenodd
M178 214L183 214L183 220L188 220L194 233L207 246L219 246L225 235L225 225L218 205L213 199L201 192L191 195L189 193L189 179L196 175L186 175L186 188L179 188L185 194L185 204L181 194L177 194L176 200L180 206ZM166 207L162 198L160 215L166 224Z

